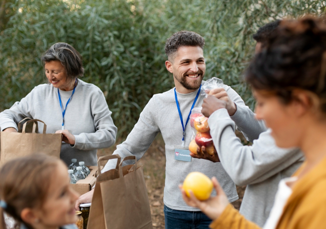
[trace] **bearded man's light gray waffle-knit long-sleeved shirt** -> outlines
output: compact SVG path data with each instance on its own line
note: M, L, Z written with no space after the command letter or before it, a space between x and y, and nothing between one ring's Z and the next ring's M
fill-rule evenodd
M205 82L203 81L202 84ZM229 86L224 85L230 99L237 106L244 106L247 113L251 114L249 121L253 123L252 128L248 130L247 139L257 139L259 134L266 130L265 124L255 120L254 113L244 104L241 97ZM185 124L190 108L195 101L198 90L189 94L180 94L177 92L180 110L183 122ZM205 96L200 95L195 107L200 107ZM176 210L199 211L200 209L189 207L183 200L179 184L182 184L185 177L194 171L206 174L209 178L215 176L228 196L230 202L237 200L238 194L234 182L226 173L220 162L213 163L204 159L191 158L191 162L174 160L174 146L181 146L182 143L182 125L177 110L174 88L162 94L156 94L147 103L141 112L139 120L128 135L126 141L117 146L113 154L119 154L121 158L135 155L137 160L141 159L152 144L156 135L161 132L165 142L166 172L164 188L164 204ZM192 138L190 122L185 127L185 146L188 146ZM132 163L132 160L124 162L123 166ZM116 159L109 160L102 172L115 168ZM145 165L146 166L146 165ZM212 193L216 195L215 190Z

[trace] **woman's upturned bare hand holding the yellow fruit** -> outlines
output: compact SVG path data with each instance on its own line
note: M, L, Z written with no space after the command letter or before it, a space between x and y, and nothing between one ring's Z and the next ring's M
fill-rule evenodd
M212 220L215 220L228 206L229 200L215 177L212 178L212 182L216 190L216 196L211 196L208 200L204 201L198 200L191 191L189 191L190 197L188 197L185 194L185 190L182 188L181 184L179 185L179 188L181 189L182 197L187 205L194 208L199 208L202 212L204 212L205 215L207 215Z

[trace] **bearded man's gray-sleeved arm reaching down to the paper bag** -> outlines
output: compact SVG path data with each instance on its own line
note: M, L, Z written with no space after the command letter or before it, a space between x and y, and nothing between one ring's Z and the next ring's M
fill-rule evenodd
M131 130L126 141L117 145L117 149L113 154L118 154L121 158L134 155L139 160L150 147L159 131L156 122L155 98L153 97L141 112L138 122ZM102 172L115 168L116 163L116 159L109 160ZM123 166L131 163L133 163L132 160L127 160L123 163Z

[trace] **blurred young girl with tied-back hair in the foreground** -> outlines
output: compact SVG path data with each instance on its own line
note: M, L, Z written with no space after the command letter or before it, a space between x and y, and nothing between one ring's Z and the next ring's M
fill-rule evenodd
M1 168L0 177L0 229L6 229L3 211L21 229L77 229L78 195L69 188L62 161L46 155L15 159Z

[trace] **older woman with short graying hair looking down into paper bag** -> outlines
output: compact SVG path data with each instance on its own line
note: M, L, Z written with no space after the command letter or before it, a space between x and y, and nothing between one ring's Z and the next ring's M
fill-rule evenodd
M103 92L82 76L82 57L67 43L52 45L41 58L48 84L36 86L20 102L0 113L1 131L17 132L29 117L46 123L47 133L62 133L60 158L96 165L96 151L114 144L117 128Z

